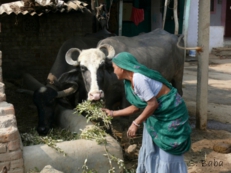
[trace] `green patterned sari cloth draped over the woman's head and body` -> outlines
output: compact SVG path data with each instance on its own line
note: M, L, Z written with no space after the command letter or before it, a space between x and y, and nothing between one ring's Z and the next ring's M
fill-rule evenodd
M164 151L174 155L187 152L191 147L191 127L185 102L177 90L159 72L140 64L128 52L119 53L112 62L122 69L141 73L170 88L168 94L157 99L159 106L146 120L146 128L155 144ZM145 108L147 103L134 94L130 81L124 80L124 85L127 100L138 108Z

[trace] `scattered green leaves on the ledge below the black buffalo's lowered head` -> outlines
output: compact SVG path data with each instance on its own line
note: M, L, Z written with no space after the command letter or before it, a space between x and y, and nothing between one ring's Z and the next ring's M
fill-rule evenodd
M66 153L57 147L56 143L79 139L79 135L66 129L51 129L47 136L39 136L33 128L28 133L22 133L21 138L24 146L47 144L49 147L66 156Z

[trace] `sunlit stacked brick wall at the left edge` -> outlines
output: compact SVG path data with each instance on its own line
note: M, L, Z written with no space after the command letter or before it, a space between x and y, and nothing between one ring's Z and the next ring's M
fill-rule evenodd
M0 69L1 65L2 52L0 52ZM0 170L6 166L8 173L23 173L23 147L14 106L6 102L2 70L0 70L0 76Z

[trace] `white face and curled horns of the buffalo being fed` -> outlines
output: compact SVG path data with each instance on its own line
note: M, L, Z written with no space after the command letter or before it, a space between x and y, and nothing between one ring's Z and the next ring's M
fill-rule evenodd
M100 98L103 98L104 92L99 89L99 85L97 83L97 70L100 65L105 63L106 59L114 57L114 48L111 45L104 44L97 48L82 51L72 48L69 51L66 53L66 62L70 65L86 67L90 72L91 83L90 90L88 92L88 100L99 100ZM73 51L78 51L80 53L77 61L74 61L71 57ZM107 52L107 57L105 52Z

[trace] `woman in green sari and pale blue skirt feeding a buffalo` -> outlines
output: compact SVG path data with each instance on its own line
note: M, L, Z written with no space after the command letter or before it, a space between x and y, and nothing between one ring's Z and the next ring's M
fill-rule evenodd
M144 125L136 172L186 173L183 154L191 147L191 127L184 100L159 72L140 64L132 54L119 53L112 62L117 78L124 80L131 106L103 110L118 117L143 109L127 131L128 137L135 137L140 124Z

